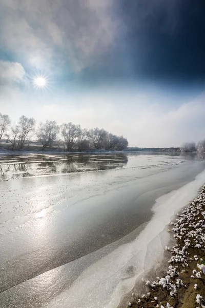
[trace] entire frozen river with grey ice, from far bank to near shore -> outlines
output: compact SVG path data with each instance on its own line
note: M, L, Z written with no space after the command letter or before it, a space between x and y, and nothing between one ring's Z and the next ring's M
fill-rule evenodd
M0 155L0 306L115 308L204 169L152 153Z

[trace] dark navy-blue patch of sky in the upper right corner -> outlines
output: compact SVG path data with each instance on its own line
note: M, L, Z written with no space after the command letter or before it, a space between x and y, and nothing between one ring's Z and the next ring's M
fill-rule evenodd
M135 75L195 80L205 77L205 2L122 0L125 54Z

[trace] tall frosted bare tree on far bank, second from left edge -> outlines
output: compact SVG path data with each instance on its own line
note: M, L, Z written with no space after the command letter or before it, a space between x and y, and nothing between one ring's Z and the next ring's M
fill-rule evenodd
M11 136L6 134L12 144L12 149L23 149L25 141L29 140L35 131L35 120L27 118L25 115L19 118L17 125L11 127Z

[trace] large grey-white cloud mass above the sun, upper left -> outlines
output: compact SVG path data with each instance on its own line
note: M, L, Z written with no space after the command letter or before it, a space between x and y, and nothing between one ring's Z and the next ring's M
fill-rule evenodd
M120 21L113 6L114 0L3 0L0 43L38 67L62 52L79 71L115 44Z

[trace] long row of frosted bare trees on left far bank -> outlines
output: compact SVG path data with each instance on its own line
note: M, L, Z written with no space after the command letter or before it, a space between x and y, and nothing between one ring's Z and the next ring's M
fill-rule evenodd
M43 148L54 144L63 145L67 151L86 151L89 149L105 149L121 151L128 146L128 140L116 136L103 128L86 129L71 122L58 125L56 121L47 120L36 128L36 121L25 115L17 124L11 124L9 115L0 112L0 141L3 137L11 144L11 149L22 150L26 142L35 137Z

